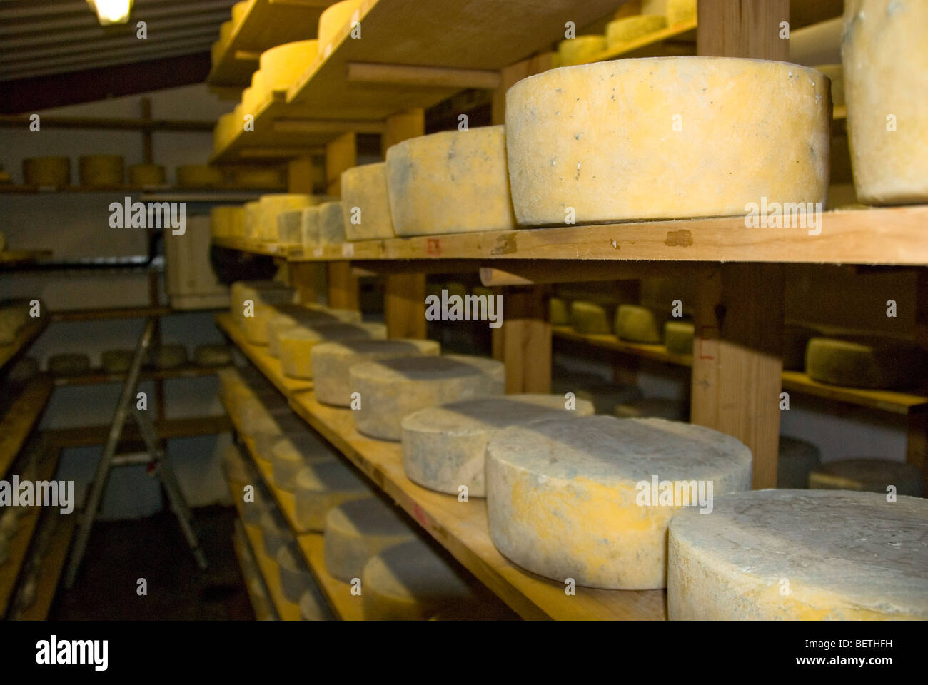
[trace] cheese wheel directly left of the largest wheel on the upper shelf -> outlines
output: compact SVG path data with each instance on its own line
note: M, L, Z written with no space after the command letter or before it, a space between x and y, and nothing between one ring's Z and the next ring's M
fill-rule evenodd
M505 126L441 131L387 150L387 190L397 236L515 228Z

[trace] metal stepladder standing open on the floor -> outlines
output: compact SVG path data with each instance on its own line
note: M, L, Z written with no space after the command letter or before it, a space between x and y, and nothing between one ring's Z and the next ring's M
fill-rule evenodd
M110 470L117 466L129 466L135 464L148 464L149 470L161 479L161 485L167 494L174 510L174 515L180 523L181 530L187 538L187 545L193 552L193 557L200 569L206 568L206 557L200 549L200 542L197 540L196 533L193 532L191 525L192 515L184 495L181 493L180 485L174 470L171 469L167 459L164 458L164 450L159 445L158 433L154 424L148 419L145 411L139 410L135 406L135 393L138 389L139 375L142 369L142 362L148 355L148 347L151 342L151 336L155 330L155 320L148 318L145 323L145 329L142 330L142 336L135 347L135 355L132 358L132 364L126 373L125 381L122 383L122 394L120 394L119 403L116 405L116 412L113 415L112 424L110 425L110 434L107 437L106 447L103 449L103 455L97 464L97 473L94 475L94 482L91 486L90 497L87 499L84 513L78 528L77 540L74 548L71 549L71 558L68 561L68 572L65 575L65 587L72 588L77 572L81 567L84 559L84 553L87 549L87 542L90 540L90 531L93 528L94 520L97 518L97 510L103 499L103 493L106 490L107 479L110 477ZM142 434L142 440L145 442L146 452L137 454L116 454L116 446L122 435L122 428L128 416L132 416L138 425L139 433Z

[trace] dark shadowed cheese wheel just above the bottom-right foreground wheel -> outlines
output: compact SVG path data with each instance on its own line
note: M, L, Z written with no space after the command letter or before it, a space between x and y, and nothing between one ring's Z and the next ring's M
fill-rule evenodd
M896 494L920 498L924 493L922 472L903 461L844 459L821 464L809 473L815 490L864 490L885 495L890 485Z

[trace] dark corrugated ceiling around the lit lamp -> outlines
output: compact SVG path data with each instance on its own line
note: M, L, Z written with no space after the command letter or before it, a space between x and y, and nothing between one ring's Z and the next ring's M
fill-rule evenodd
M127 24L103 27L86 0L0 0L0 82L209 52L234 2L135 0Z

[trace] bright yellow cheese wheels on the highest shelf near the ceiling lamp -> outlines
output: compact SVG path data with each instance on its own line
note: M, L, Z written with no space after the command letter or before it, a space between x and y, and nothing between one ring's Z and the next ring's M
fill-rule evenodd
M319 16L318 39L294 41L277 45L261 53L259 68L251 74L251 85L242 92L241 102L235 110L219 118L213 130L213 150L219 151L243 130L246 119L253 118L264 108L275 92L290 90L318 58L327 58L342 33L357 20L361 0L342 0L329 6ZM234 9L234 7L233 7ZM233 13L234 14L234 13ZM228 35L234 28L233 21L223 24ZM228 45L228 38L220 34L213 44L213 64L221 59Z

